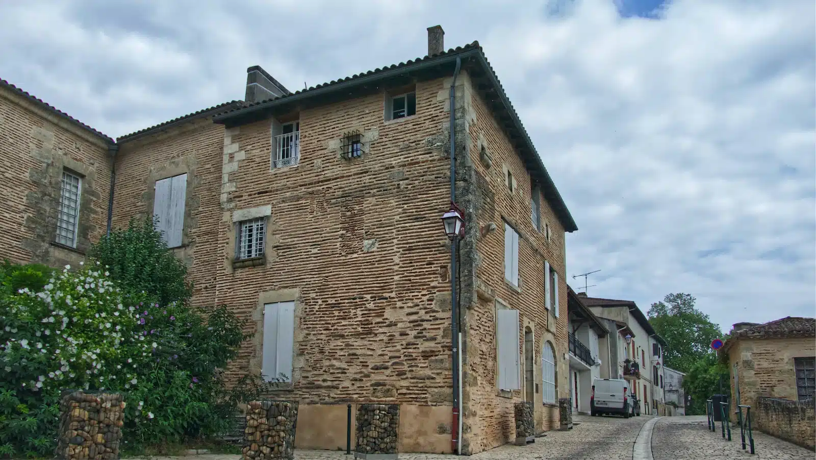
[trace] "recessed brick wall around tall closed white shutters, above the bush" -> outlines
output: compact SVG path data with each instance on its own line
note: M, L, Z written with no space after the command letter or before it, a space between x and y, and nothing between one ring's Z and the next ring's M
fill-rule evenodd
M219 226L224 127L200 118L166 131L124 141L117 160L113 227L153 214L156 181L186 173L182 246L173 249L188 266L193 303L215 306L215 278L222 266Z

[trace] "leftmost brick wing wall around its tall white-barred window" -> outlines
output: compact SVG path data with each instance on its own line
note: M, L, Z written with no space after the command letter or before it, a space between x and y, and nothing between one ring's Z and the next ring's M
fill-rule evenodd
M82 177L76 248L55 243L64 168ZM77 264L104 235L108 219L108 141L0 88L0 259Z

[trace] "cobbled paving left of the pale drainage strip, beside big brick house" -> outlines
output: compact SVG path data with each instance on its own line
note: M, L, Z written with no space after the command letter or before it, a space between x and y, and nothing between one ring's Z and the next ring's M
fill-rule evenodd
M477 453L473 460L543 460L577 459L632 460L632 448L641 427L651 417L588 417L574 418L579 425L570 431L548 431L534 444L516 446L506 444L487 452ZM197 455L175 458L184 460L235 460L238 455ZM350 460L353 455L330 450L295 449L295 460ZM432 453L400 453L400 460L450 460L450 455ZM157 460L171 460L160 458Z

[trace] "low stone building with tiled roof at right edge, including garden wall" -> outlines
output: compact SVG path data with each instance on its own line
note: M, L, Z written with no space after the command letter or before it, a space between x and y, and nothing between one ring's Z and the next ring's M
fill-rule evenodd
M731 419L736 404L749 405L754 427L814 449L816 319L737 323L729 335L720 353L730 365Z

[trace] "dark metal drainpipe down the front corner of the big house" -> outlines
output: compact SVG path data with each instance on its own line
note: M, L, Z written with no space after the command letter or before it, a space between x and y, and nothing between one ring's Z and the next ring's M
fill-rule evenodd
M462 67L462 58L456 57L454 79L450 82L450 203L456 202L456 78ZM454 453L461 454L459 427L459 309L456 305L456 245L458 238L450 240L450 364L453 376L453 423L450 426L450 444Z

